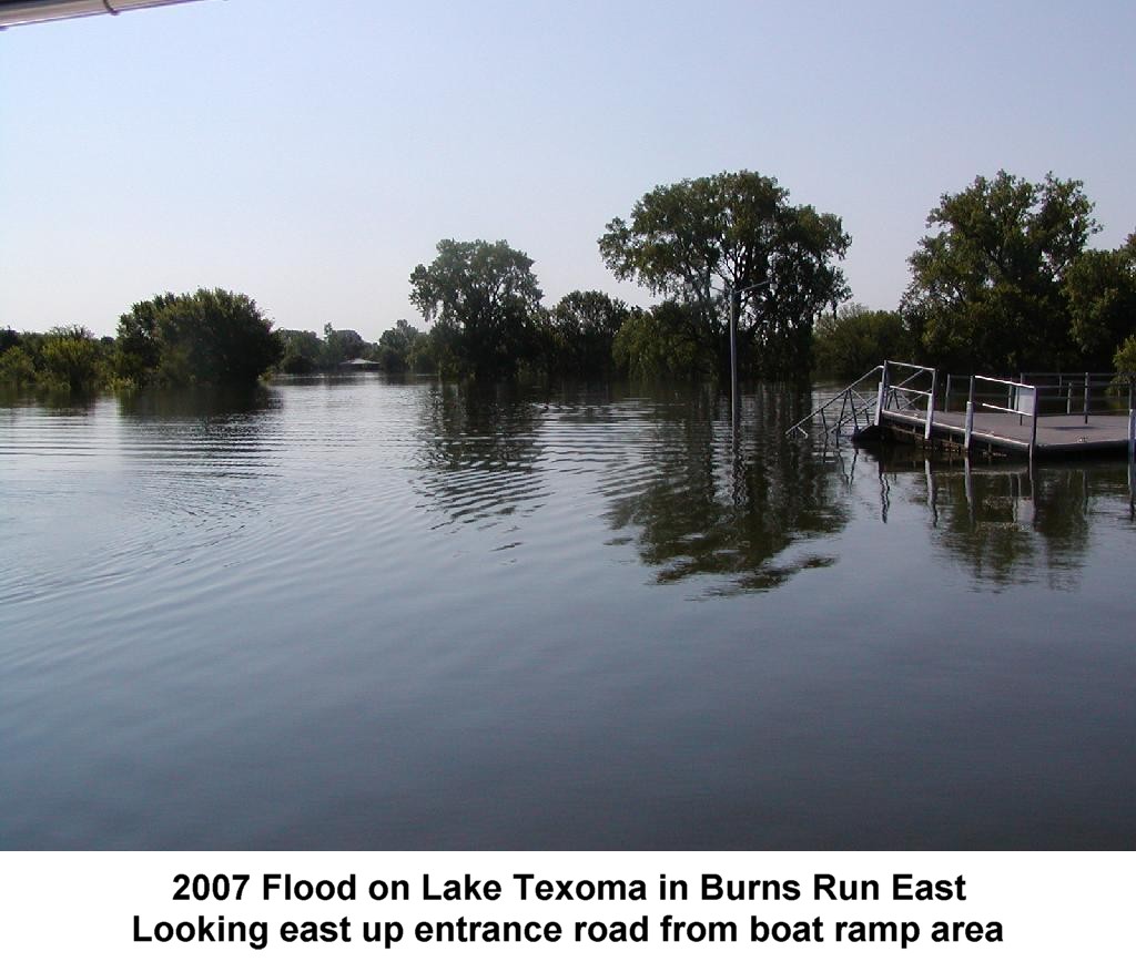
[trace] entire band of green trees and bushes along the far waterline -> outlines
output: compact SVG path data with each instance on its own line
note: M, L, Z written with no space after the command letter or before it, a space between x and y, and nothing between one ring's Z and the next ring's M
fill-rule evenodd
M772 177L724 172L655 187L599 238L616 278L660 298L649 307L599 290L546 307L524 252L443 239L410 275L426 331L398 320L368 343L331 323L274 330L251 297L201 288L134 304L117 337L2 328L0 386L240 385L359 361L477 381L712 380L727 370L732 312L745 378L852 379L883 357L958 373L1136 370L1136 233L1089 250L1101 228L1081 182L977 177L942 195L927 228L900 304L869 310L838 265L852 242L841 218L792 205Z

